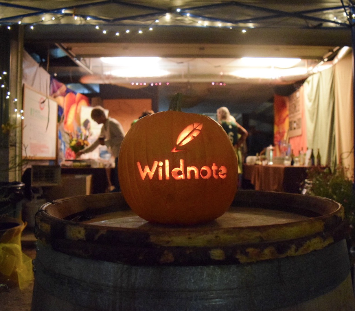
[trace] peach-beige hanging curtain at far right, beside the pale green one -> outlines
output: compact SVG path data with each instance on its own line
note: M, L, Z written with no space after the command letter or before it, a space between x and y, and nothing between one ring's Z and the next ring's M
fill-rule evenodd
M350 53L334 66L335 141L338 163L342 163L349 178L354 174L354 104L353 55Z

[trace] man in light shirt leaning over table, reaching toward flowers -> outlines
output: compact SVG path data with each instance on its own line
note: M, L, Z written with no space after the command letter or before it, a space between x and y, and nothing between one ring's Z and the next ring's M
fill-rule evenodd
M91 111L91 118L98 124L103 124L99 138L95 140L90 146L76 153L79 157L84 153L91 152L97 148L98 145L106 145L111 154L115 157L115 170L114 170L114 189L112 192L121 190L118 180L118 155L122 140L125 137L125 132L120 122L111 117L106 117L105 111L101 106L95 106Z

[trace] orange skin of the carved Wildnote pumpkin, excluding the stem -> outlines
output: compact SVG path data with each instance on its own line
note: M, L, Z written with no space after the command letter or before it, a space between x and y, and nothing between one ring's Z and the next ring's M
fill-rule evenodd
M177 146L182 130L200 123L197 135ZM174 147L181 151L172 152ZM181 174L181 160L184 178L175 179L177 173L172 170ZM146 166L151 179L148 173L144 176ZM188 166L195 166L198 172L205 168L196 179L193 169L188 176ZM212 221L228 210L237 191L237 158L228 135L213 119L195 113L163 111L138 120L122 141L118 172L122 194L131 209L153 223Z

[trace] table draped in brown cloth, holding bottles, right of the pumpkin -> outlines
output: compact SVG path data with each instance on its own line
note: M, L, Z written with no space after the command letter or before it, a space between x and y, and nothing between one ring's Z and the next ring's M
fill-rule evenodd
M307 166L243 165L244 185L255 190L301 193L302 182L307 178Z

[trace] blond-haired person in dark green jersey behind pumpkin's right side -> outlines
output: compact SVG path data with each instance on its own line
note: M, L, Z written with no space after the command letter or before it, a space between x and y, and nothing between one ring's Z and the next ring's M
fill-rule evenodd
M248 131L242 127L233 116L230 115L227 107L220 107L217 109L217 121L222 125L234 146L234 150L238 159L238 186L240 187L241 174L243 172L242 146L245 144L245 140L248 137Z

